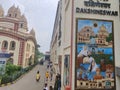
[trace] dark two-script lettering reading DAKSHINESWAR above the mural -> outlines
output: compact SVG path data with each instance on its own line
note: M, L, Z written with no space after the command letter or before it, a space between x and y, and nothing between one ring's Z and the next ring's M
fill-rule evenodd
M101 1L101 0L100 0ZM111 4L106 2L100 2L99 0L85 0L83 4L86 8L76 8L76 13L86 13L86 14L98 14L98 15L109 15L109 16L118 16L118 11L110 10ZM91 7L94 7L94 9ZM96 9L101 8L101 9ZM103 10L109 9L109 10Z

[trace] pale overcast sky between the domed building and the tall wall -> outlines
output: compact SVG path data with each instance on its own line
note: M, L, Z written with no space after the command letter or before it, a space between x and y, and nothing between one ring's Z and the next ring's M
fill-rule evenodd
M29 31L33 28L36 33L40 52L49 51L56 9L59 0L0 0L0 5L7 10L19 6L28 21Z

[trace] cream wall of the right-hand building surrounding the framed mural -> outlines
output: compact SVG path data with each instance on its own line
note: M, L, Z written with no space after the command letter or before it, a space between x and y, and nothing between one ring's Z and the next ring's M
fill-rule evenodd
M62 88L61 90L65 89L64 83L64 59L65 55L72 55L72 62L70 65L72 66L72 69L70 69L72 72L72 81L71 82L71 90L75 90L75 53L76 53L76 19L78 18L84 18L84 19L96 19L96 20L106 20L106 21L113 21L113 31L114 31L114 55L115 55L115 65L120 65L120 43L119 43L119 35L120 35L120 17L118 16L109 16L109 15L98 15L98 14L85 14L85 13L76 13L76 8L90 8L90 9L97 9L97 10L104 10L105 8L99 8L99 7L86 7L84 5L84 1L88 0L61 0L62 1L62 10L61 12L61 31L62 31L62 37L61 37L61 46L58 47L58 40L55 42L56 36L59 34L59 26L57 26L55 32L53 33L52 43L51 45L51 59L54 62L58 63L58 56L62 56L62 73L61 73L61 82L62 82ZM96 1L96 0L93 0ZM72 3L73 2L73 3ZM111 4L111 7L106 10L111 11L118 11L119 12L119 0L112 1L109 0L108 3ZM105 2L106 3L106 2ZM73 9L72 9L73 8ZM60 14L60 13L59 13ZM57 15L57 14L56 14ZM72 18L73 15L73 18ZM72 21L73 20L73 21ZM71 32L71 30L73 32ZM73 38L71 39L71 34L73 34ZM71 43L72 40L72 43ZM72 46L72 47L71 47ZM72 53L71 53L72 48ZM71 57L71 56L70 56ZM70 79L71 79L70 78ZM117 82L119 81L119 78L117 78ZM119 85L117 83L117 90L119 88Z

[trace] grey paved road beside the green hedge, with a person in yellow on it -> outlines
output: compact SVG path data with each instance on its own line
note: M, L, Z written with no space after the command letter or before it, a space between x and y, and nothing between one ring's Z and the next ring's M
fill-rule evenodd
M46 65L37 65L32 71L25 74L15 84L0 87L0 90L43 90L46 72L45 66ZM40 71L41 79L39 82L36 82L35 77L38 70Z

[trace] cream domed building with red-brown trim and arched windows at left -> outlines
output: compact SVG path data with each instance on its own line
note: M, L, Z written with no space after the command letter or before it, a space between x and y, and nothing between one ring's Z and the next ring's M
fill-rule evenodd
M0 5L0 52L11 53L12 64L27 67L34 64L35 31L28 31L27 19L19 7L8 9L7 15Z

